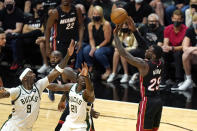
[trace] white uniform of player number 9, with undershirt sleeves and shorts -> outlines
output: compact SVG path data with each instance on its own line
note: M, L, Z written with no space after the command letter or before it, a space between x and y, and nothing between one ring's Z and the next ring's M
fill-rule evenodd
M31 90L26 90L23 85L8 90L10 96L14 94L16 98L11 101L12 114L1 131L31 131L38 118L41 93L48 84L48 78L45 77L36 82Z

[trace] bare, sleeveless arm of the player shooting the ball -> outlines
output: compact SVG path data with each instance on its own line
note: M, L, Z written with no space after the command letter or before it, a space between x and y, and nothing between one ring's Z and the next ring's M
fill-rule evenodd
M118 31L120 30L120 27L120 25L117 25L114 29L114 41L116 48L118 49L120 55L123 56L128 63L137 67L140 74L144 76L148 71L148 64L145 62L145 60L132 56L128 51L124 49L118 36Z

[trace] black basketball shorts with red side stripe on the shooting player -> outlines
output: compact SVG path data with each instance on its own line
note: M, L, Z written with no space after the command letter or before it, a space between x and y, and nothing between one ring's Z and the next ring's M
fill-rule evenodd
M139 104L137 131L144 129L157 129L160 125L162 114L162 101L159 96L144 97Z

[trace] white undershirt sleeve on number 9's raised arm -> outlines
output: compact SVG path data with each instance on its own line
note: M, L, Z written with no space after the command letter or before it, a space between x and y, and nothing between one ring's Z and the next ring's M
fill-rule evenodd
M43 90L49 85L49 80L47 77L40 79L35 83L36 87L38 88L40 95L42 94Z

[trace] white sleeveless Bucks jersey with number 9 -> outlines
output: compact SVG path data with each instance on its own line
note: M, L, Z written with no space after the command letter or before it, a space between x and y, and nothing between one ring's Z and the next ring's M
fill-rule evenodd
M16 101L12 101L11 120L19 127L31 128L38 118L40 109L40 93L36 86L31 91L19 86L20 95Z

